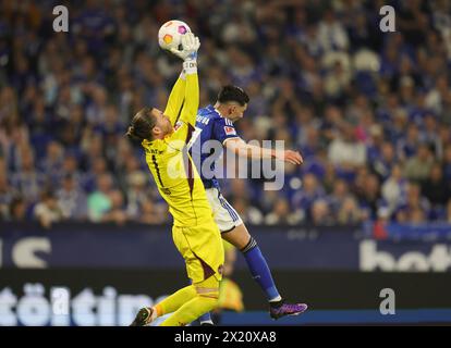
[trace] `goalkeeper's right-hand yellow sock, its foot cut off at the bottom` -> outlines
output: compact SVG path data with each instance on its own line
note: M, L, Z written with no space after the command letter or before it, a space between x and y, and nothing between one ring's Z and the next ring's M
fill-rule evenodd
M218 306L219 282L210 276L193 285L195 297L180 307L160 326L184 326Z

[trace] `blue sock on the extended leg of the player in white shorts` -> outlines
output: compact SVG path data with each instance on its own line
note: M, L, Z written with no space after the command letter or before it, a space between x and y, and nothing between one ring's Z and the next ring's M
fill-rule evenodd
M257 246L257 241L251 237L247 246L245 246L241 251L246 259L253 278L265 291L268 300L280 300L281 297L277 290L275 281L272 281L271 271L269 271L268 264L261 254L260 248Z

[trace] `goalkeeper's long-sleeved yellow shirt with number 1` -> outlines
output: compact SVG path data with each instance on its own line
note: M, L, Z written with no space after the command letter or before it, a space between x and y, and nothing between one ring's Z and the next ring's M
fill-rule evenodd
M168 202L174 225L180 227L214 223L204 184L186 148L195 129L198 103L197 73L179 77L164 110L174 132L164 139L142 142L158 190Z

